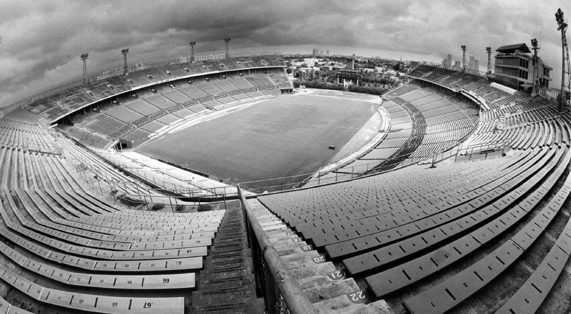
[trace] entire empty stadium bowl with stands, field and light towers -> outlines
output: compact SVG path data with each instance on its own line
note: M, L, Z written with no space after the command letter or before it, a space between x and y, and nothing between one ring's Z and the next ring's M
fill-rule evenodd
M0 112L0 313L570 311L568 54L379 96L229 41Z

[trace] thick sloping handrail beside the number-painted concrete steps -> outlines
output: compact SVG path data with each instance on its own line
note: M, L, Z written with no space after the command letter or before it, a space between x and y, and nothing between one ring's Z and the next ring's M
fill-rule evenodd
M317 313L313 308L313 305L309 299L304 295L303 291L297 284L297 280L293 277L287 264L284 263L282 257L280 257L278 251L276 251L274 244L270 241L270 238L266 235L266 232L262 229L262 225L256 219L254 213L252 212L246 198L240 190L240 184L238 184L238 194L240 196L240 202L242 203L242 208L246 212L247 220L246 226L250 227L254 231L256 240L260 246L260 251L263 254L264 260L274 279L275 284L286 303L286 307L291 314L311 314Z

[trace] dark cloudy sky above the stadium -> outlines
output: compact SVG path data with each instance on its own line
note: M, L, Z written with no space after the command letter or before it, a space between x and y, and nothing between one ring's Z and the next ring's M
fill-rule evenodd
M540 56L561 77L561 35L554 13L568 1L0 1L0 107L81 78L89 53L97 75L122 64L156 62L224 49L362 54L440 62L467 55L486 65L485 47L537 38Z

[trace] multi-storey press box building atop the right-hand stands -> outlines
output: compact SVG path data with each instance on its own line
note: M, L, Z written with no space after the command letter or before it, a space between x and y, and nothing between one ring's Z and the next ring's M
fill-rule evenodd
M530 90L533 85L533 55L525 43L501 46L496 49L494 72L496 80L516 90ZM545 65L540 57L539 82L541 87L549 87L552 67Z

